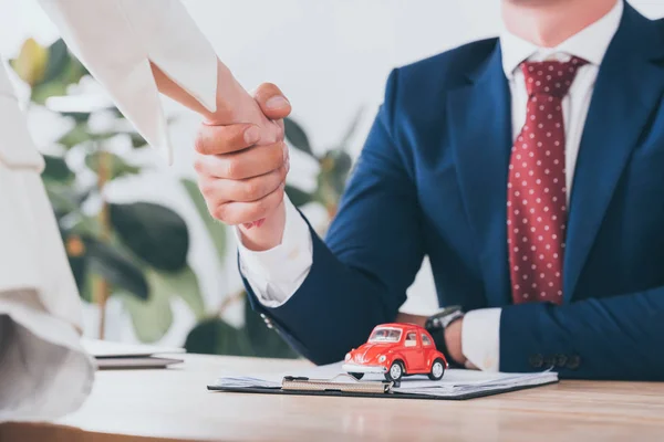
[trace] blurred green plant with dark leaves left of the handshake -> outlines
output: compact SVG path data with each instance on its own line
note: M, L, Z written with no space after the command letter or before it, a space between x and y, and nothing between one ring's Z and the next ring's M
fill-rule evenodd
M32 106L44 106L51 97L68 95L71 86L89 75L62 40L44 48L29 39L10 64L31 87ZM112 123L122 119L115 108L102 110L116 118ZM120 129L93 130L90 120L94 112L90 109L60 114L71 122L71 129L55 141L61 155L44 156L42 178L81 296L100 305L108 296L121 298L143 341L156 341L168 330L174 296L203 319L205 308L198 281L187 264L189 231L184 219L164 206L111 203L103 197L105 187L114 180L142 171L108 151L108 140L128 136L133 148L138 149L146 146L143 137ZM77 168L68 161L73 150L84 155L84 164ZM94 179L90 179L91 172ZM87 202L98 210L83 210ZM98 281L104 284L95 284Z

